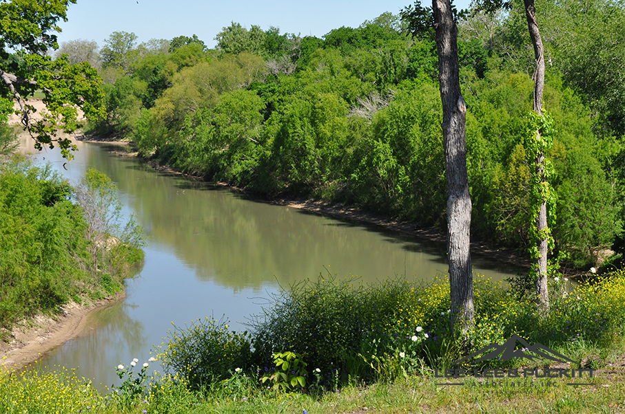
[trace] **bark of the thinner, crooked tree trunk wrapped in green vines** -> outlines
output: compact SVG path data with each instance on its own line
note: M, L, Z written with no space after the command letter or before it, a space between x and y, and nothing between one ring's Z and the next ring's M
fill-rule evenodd
M536 72L534 74L534 111L542 115L542 92L544 91L544 47L540 38L540 30L538 30L538 22L536 20L536 8L534 0L524 0L525 17L529 28L529 36L534 46L534 56L536 58ZM540 138L540 131L537 132ZM545 182L544 177L544 153L539 153L535 160L536 174L540 177L540 182ZM546 316L549 314L549 292L547 291L547 252L548 241L546 235L547 229L547 203L542 201L540 211L536 219L538 237L540 239L536 259L536 294L538 297L538 305L540 312Z

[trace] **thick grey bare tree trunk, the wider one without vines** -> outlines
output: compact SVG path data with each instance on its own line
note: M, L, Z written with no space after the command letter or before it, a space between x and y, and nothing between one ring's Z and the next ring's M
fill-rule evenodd
M447 175L447 259L451 286L451 331L466 338L473 326L473 274L469 233L471 229L471 195L467 177L465 125L467 108L460 94L458 67L458 28L453 20L451 1L432 0L440 98L442 100L442 133Z

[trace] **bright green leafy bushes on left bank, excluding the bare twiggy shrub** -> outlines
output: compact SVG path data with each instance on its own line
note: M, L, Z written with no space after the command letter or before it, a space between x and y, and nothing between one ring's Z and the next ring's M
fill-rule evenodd
M2 164L0 172L0 325L79 294L86 278L85 230L70 187L48 169Z

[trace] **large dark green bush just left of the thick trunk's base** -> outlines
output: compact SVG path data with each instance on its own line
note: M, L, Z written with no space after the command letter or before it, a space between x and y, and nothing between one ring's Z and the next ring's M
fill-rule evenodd
M428 338L418 349L424 357L425 347L440 348L447 309L449 287L444 284L396 279L354 286L350 279L320 277L281 292L262 317L253 319L254 352L259 361L275 352L301 353L328 383L336 375L342 380L373 378L376 369L359 354L395 353L402 338L427 327L423 334Z

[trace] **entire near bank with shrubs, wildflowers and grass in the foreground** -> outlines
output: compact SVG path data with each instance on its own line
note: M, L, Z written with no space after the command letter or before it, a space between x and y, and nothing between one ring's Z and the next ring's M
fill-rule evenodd
M116 367L120 386L100 392L65 367L6 373L0 413L622 412L625 272L574 289L566 282L553 278L551 315L540 318L522 292L475 279L471 352L518 334L573 363L472 358L456 364L462 353L447 335L444 281L363 287L320 278L276 296L251 333L209 319L174 328L154 350L166 374L148 377L154 359L133 360ZM451 367L506 375L440 376ZM546 368L560 375L540 378L549 375ZM537 372L515 377L515 369ZM580 378L571 369L586 372Z

